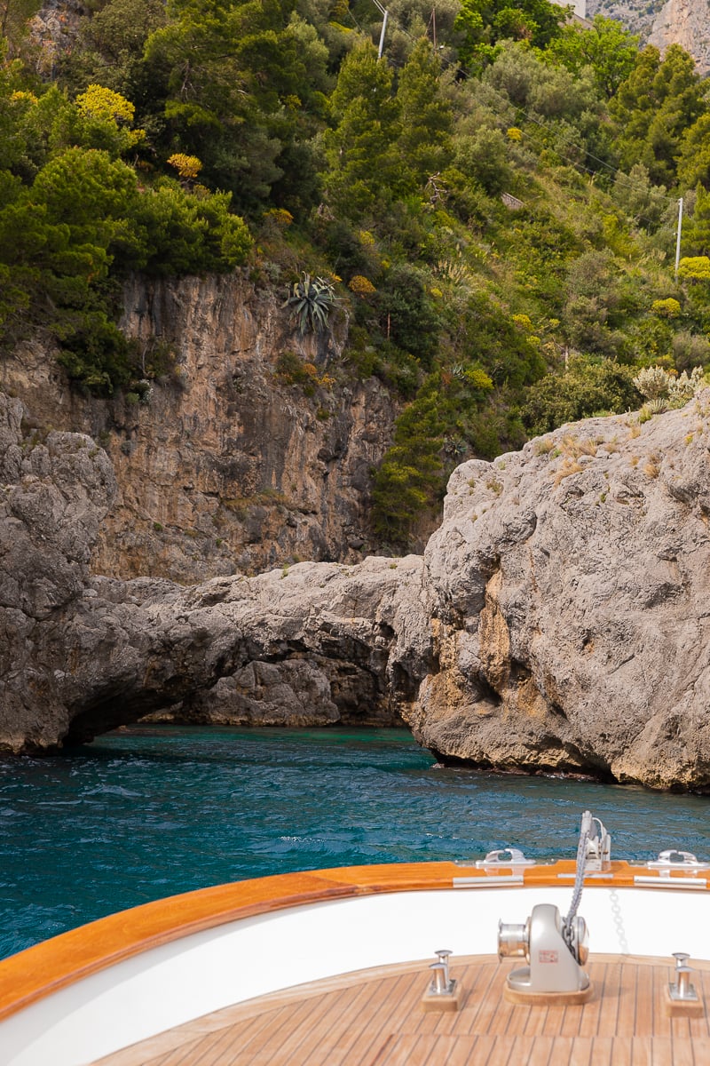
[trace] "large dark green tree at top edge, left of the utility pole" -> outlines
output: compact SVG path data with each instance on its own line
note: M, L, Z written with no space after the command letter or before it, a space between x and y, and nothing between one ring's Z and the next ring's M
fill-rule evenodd
M241 211L258 210L283 174L309 95L309 71L288 0L171 0L169 21L146 44L165 70L166 155L204 163Z

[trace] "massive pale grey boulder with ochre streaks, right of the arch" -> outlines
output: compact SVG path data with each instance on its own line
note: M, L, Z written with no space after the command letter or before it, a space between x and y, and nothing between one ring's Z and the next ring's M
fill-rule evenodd
M425 555L440 669L409 717L422 743L482 765L710 784L709 403L459 467Z

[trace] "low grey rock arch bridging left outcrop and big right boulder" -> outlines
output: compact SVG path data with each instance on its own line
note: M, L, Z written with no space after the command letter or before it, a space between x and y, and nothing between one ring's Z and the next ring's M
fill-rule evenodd
M191 589L90 579L46 627L45 643L71 664L56 675L66 720L46 743L90 740L161 709L248 725L399 722L408 690L389 685L389 652L404 589L414 596L420 579L418 556L301 563Z

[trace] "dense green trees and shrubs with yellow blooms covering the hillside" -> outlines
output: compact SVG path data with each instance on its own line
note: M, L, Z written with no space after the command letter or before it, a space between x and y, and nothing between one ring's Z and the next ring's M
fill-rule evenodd
M34 6L0 2L1 342L53 337L79 387L147 386L130 272L243 268L303 332L347 310L345 360L287 373L400 398L374 500L401 544L466 456L710 360L710 97L681 48L546 0L391 0L382 59L371 0L93 0L50 54Z

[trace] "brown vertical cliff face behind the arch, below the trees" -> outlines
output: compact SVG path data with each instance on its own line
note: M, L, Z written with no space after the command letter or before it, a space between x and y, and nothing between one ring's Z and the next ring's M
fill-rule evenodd
M191 583L362 559L370 471L396 409L376 378L347 384L344 316L316 341L299 336L275 293L238 275L136 278L122 324L163 365L148 405L130 393L82 399L36 344L18 349L0 382L40 432L89 433L111 457L118 492L95 572ZM311 368L306 385L279 374L284 353Z

